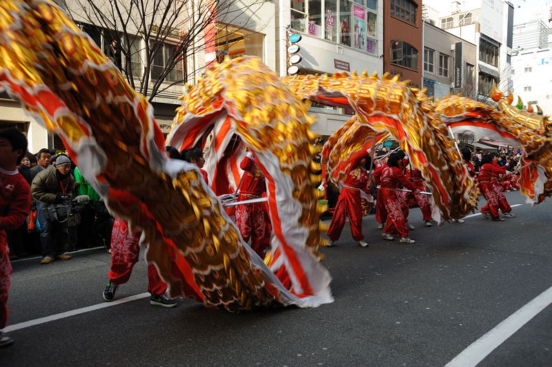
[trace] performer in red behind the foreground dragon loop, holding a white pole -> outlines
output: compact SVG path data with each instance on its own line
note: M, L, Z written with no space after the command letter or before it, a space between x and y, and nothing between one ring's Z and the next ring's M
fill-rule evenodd
M239 166L244 170L244 177L237 200L257 199L266 195L264 175L257 166L252 152L247 152ZM261 259L264 259L266 250L270 246L270 232L272 232L266 202L237 206L236 226L244 241L248 242L251 239L251 248Z

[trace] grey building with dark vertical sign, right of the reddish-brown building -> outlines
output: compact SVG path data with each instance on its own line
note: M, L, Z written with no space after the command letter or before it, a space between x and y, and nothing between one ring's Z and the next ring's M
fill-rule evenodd
M462 93L475 98L477 48L431 23L424 23L424 88L428 97Z

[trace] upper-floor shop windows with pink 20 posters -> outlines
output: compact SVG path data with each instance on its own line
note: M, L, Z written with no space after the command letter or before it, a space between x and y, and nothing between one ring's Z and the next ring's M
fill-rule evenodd
M377 0L291 0L291 28L377 54Z

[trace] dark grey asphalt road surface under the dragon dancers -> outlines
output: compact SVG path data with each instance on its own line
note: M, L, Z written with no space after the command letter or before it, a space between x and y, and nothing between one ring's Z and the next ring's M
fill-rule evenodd
M325 248L335 302L319 308L231 314L184 299L172 309L148 298L10 332L1 366L444 366L552 286L552 204L507 194L517 218L423 227L414 245L380 238L364 219L369 248L351 238ZM110 255L13 264L10 325L104 305ZM146 292L140 261L117 299ZM144 297L144 296L142 296ZM551 366L552 307L487 350L480 366Z

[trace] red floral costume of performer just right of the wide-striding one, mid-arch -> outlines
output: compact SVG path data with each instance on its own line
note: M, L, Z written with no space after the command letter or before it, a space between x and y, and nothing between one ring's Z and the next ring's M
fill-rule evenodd
M391 234L397 231L400 237L408 237L404 217L404 205L401 203L402 192L395 190L402 185L404 188L415 191L416 188L411 181L408 181L402 168L386 167L382 172L382 184L380 191L387 210L387 224L384 232Z

